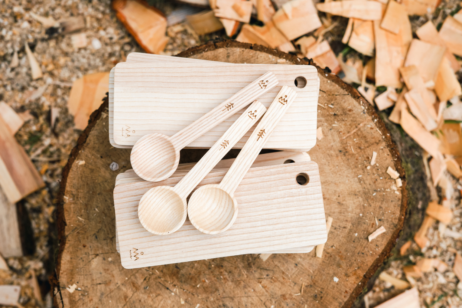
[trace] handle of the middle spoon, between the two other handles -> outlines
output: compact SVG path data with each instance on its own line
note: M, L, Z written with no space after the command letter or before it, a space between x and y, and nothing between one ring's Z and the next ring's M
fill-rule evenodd
M182 198L186 199L194 187L215 167L226 153L239 141L242 136L258 121L266 112L265 106L259 101L254 101L247 110L234 122L225 134L215 142L210 150L195 164L173 190Z

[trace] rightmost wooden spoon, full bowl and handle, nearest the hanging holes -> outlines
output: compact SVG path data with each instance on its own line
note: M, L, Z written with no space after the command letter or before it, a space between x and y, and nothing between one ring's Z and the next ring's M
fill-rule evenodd
M234 191L296 96L296 91L283 86L221 183L204 185L192 194L188 202L188 217L196 229L218 234L231 227L237 217ZM255 189L258 189L257 186L255 183Z

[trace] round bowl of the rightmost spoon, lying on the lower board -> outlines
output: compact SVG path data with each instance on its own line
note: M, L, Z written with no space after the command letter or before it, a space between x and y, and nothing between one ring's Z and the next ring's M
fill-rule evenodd
M237 201L219 184L204 185L189 199L188 217L199 231L219 234L229 229L236 220Z

